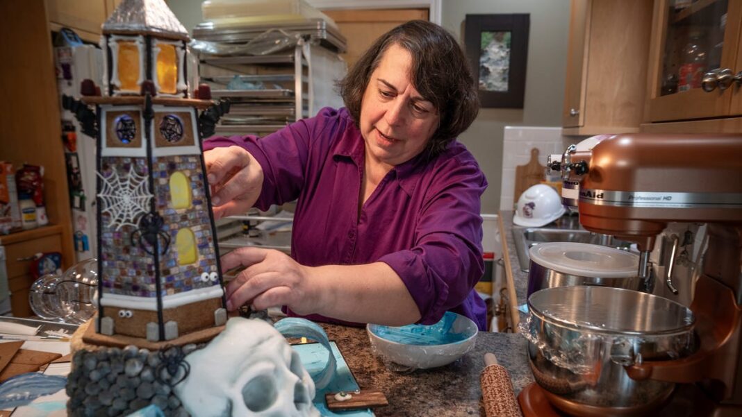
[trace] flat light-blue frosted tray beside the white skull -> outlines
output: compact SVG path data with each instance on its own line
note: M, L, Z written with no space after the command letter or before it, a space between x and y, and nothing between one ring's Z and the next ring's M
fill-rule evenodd
M338 373L335 375L335 379L324 388L324 390L318 390L315 395L315 407L320 411L322 416L374 416L374 413L370 409L365 410L352 410L335 412L327 410L327 405L324 401L326 393L337 393L338 391L352 392L358 390L358 382L353 378L353 374L350 372L348 364L345 363L343 355L338 350L338 345L334 341L329 342L332 347L332 354L335 355L335 360L338 361ZM315 373L322 370L327 361L327 350L318 343L306 343L306 344L294 344L292 348L299 354L301 363L304 365L309 373Z

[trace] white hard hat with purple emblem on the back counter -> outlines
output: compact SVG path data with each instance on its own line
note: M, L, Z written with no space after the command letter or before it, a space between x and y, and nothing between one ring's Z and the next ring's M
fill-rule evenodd
M546 184L536 184L518 199L513 223L519 226L542 227L562 217L565 208L557 190Z

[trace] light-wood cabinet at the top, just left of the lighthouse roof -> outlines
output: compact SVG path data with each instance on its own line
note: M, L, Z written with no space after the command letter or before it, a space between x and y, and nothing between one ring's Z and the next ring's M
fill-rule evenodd
M98 43L100 25L122 0L46 0L51 30L69 27L82 39Z

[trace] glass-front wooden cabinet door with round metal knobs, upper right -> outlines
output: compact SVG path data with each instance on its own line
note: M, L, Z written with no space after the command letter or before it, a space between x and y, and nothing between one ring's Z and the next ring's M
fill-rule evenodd
M738 59L742 4L734 0L657 0L646 119L728 116L734 87L706 91L704 74Z

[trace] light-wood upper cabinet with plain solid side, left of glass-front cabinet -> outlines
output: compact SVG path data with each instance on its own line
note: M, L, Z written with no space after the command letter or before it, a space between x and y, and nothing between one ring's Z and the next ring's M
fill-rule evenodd
M651 0L571 1L565 135L639 130L651 12Z

